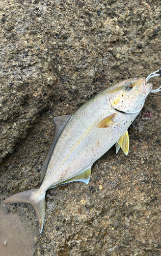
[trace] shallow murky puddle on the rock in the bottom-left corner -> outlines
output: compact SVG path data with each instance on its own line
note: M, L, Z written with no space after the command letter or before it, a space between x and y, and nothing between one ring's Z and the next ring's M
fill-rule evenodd
M21 223L16 214L6 214L0 205L0 254L1 256L32 256L36 231Z

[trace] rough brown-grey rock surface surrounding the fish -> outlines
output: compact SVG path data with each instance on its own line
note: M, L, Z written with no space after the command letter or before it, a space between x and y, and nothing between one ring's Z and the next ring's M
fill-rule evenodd
M39 186L53 117L73 113L117 81L161 67L160 6L148 0L1 3L1 200ZM47 191L40 235L31 205L7 206L37 229L35 256L160 255L160 98L150 94L131 125L127 157L113 147L94 164L89 185Z

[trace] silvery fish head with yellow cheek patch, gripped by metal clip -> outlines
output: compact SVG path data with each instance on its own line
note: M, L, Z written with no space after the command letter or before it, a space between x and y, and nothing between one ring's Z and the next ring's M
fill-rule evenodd
M133 78L117 83L110 92L111 106L127 114L140 112L151 89L152 83L147 83L145 78Z

